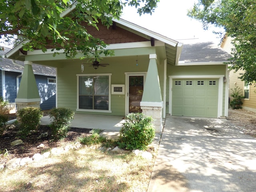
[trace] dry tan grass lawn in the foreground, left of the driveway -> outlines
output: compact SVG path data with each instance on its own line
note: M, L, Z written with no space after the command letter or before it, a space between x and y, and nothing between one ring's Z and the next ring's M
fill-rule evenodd
M1 192L146 192L154 159L71 150L0 173Z

